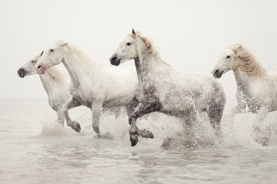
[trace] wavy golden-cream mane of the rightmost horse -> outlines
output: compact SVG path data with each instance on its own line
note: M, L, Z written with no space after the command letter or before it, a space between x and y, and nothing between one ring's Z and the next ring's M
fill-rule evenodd
M240 44L234 44L227 48L236 53L237 64L235 68L240 68L248 76L262 75L264 73L265 69L247 48Z

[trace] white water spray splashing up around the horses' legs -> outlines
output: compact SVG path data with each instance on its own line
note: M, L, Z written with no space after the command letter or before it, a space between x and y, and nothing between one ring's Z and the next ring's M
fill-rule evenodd
M94 138L95 132L91 126L90 109L76 109L75 120L81 124L81 132L77 133L68 127L64 127L54 120L42 121L40 136L68 137L87 136ZM74 116L73 113L73 116ZM261 124L261 139L266 140L263 145L253 137L252 125L256 114L236 114L234 120L229 116L230 110L226 110L221 122L223 138L215 136L206 112L197 114L196 122L187 132L178 118L164 115L158 112L147 114L138 119L138 128L146 128L154 134L154 139L140 138L139 144L153 147L160 147L164 141L169 141L166 148L161 149L202 149L202 148L234 148L234 147L263 147L277 144L277 113L269 113ZM233 125L232 125L233 124ZM102 114L100 119L100 130L102 133L109 133L114 140L129 140L128 117L124 109L121 109L118 118L112 113ZM138 144L138 146L139 146Z

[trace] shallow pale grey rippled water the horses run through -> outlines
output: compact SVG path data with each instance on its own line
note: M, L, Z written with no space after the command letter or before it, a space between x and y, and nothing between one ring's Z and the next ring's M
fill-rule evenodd
M207 121L200 124L188 147L180 123L154 113L138 121L154 139L140 139L130 146L127 117L122 111L101 117L102 132L114 139L94 138L91 114L86 107L69 111L81 124L74 132L54 122L55 112L46 101L0 101L1 184L274 184L277 181L277 136L271 131L268 146L252 138L253 114L235 116L232 133L229 119L222 121L225 138L218 140ZM205 114L202 115L205 119ZM263 127L276 123L270 113ZM274 126L272 126L274 129ZM172 146L161 148L163 138Z

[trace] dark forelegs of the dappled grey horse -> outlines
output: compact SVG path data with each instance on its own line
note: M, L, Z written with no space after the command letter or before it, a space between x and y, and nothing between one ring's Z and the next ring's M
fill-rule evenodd
M154 138L152 132L145 129L139 130L136 125L136 120L144 114L159 111L161 110L161 108L162 106L159 102L152 102L138 107L131 114L131 116L129 117L129 124L131 125L129 130L131 146L136 146L136 144L138 143L138 136L141 136L143 138Z

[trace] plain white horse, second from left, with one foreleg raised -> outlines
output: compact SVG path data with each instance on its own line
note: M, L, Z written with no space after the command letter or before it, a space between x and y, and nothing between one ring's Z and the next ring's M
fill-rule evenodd
M62 62L71 77L69 101L62 107L67 125L80 132L80 124L69 118L68 110L73 107L86 106L92 112L92 127L99 137L99 119L102 107L112 108L124 106L127 114L131 114L138 105L135 92L138 77L135 68L116 68L105 66L90 59L77 46L68 42L55 41L44 50L35 65L38 74Z

